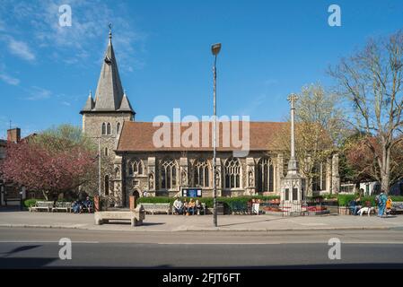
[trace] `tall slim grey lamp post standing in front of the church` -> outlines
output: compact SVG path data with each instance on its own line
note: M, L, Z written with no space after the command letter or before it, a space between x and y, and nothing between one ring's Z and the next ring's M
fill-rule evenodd
M217 63L217 55L218 53L220 53L220 49L221 49L221 43L217 43L214 44L211 47L211 52L213 53L214 57L215 57L215 65ZM213 114L214 114L214 123L213 123L213 196L214 196L214 214L213 214L213 221L215 224L215 227L217 227L217 185L216 185L216 125L217 125L217 115L216 115L216 104L215 104L215 98L216 98L216 79L217 79L217 69L215 67L215 65L213 66L213 77L214 77L214 88L213 88Z

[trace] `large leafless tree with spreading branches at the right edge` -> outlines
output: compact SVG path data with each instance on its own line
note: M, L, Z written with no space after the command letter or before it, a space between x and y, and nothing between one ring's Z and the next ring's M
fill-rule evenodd
M337 93L352 105L357 132L367 135L365 144L372 152L381 188L390 187L391 151L402 141L403 110L403 32L389 38L371 39L353 57L343 58L329 69L339 83ZM372 137L379 139L380 151Z

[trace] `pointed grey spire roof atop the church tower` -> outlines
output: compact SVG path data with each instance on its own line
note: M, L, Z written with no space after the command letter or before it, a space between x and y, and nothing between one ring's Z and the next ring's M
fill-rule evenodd
M109 38L108 47L102 60L101 74L97 90L95 91L95 99L92 101L91 111L128 111L135 114L127 97L125 100L122 83L120 82L118 63L112 45L111 24ZM82 112L89 111L88 107L91 105L89 101L87 100Z

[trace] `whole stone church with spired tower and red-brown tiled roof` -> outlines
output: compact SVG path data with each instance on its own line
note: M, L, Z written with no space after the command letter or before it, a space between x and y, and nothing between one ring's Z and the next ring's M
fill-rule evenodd
M156 146L159 126L137 122L122 87L118 64L109 43L94 97L92 93L81 110L83 132L100 141L103 162L110 172L101 174L101 193L115 206L128 206L128 196L175 196L182 188L195 187L202 196L213 196L212 128L207 123L206 145ZM227 124L233 124L232 122ZM172 132L183 130L179 123L167 124ZM249 153L234 156L235 146L217 143L217 196L279 195L286 173L285 151L276 144L288 123L250 122ZM217 125L223 132L225 124ZM230 133L233 129L230 129ZM220 134L221 135L221 134ZM171 135L174 140L174 136ZM337 154L318 167L311 187L313 194L337 193L339 188Z

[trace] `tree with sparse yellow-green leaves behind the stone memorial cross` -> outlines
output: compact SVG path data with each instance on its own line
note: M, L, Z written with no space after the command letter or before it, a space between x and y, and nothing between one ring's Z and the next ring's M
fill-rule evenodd
M302 87L295 107L295 152L299 170L307 181L307 194L312 196L313 179L320 176L317 168L326 163L345 132L343 112L337 95L319 83ZM282 146L290 149L289 129L282 136Z

